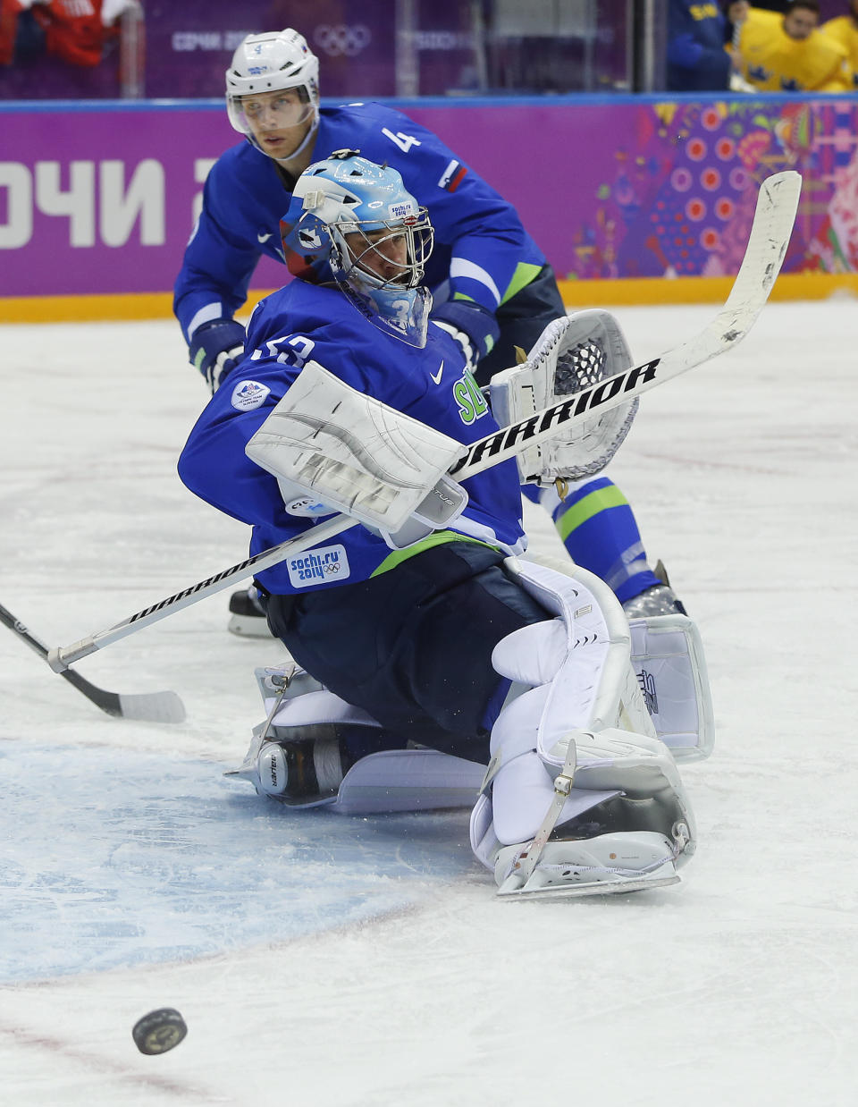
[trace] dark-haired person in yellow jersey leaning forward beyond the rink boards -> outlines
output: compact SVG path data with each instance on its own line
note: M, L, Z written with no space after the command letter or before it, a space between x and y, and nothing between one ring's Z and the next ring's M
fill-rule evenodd
M762 92L846 92L852 74L846 50L818 30L817 0L792 0L783 15L751 8L734 64Z

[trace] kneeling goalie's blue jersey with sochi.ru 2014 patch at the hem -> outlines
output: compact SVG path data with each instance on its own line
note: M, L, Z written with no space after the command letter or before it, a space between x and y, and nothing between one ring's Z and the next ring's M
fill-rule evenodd
M247 332L247 355L219 389L190 432L179 476L197 496L254 527L250 552L276 546L314 526L307 503L287 505L277 480L251 462L245 447L283 397L307 361L391 407L469 444L497 430L486 401L465 368L462 350L430 323L421 350L380 331L331 287L296 280L262 300ZM463 482L468 505L447 531L405 551L354 526L329 545L298 554L260 572L272 593L354 583L393 568L403 557L438 541L472 539L507 554L521 552L521 495L514 461Z

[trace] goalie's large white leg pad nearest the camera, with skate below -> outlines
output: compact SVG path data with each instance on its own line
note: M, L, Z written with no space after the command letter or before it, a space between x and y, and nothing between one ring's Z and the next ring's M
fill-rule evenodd
M557 618L525 627L495 648L496 670L528 690L507 702L493 728L492 762L472 813L474 852L495 868L502 889L538 890L551 883L544 869L549 855L562 867L569 858L559 852L571 850L575 861L582 848L580 840L549 841L554 827L576 820L573 837L589 838L580 817L599 807L593 818L610 834L655 835L648 873L653 865L652 872L666 866L675 879L674 862L693 852L693 818L676 765L644 706L622 608L602 581L577 567L571 577L531 562L513 562L510 570ZM568 754L577 759L573 770ZM528 852L533 860L537 842L537 871L526 871L518 884L514 877L510 887L510 873ZM606 857L617 853L606 850ZM629 869L627 858L610 879L629 879Z

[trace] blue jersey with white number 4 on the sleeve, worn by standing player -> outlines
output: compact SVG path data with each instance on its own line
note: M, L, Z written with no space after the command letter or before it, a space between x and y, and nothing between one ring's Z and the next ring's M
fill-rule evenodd
M437 291L448 280L441 298L458 293L494 313L546 265L515 208L401 112L381 104L323 107L313 161L344 148L397 169L428 209L435 250L426 284ZM238 311L262 254L286 261L280 218L291 198L277 164L249 142L218 158L175 286L175 312L188 341L197 327Z

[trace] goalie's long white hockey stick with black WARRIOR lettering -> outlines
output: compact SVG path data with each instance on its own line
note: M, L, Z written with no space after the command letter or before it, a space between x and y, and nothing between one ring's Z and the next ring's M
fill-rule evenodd
M462 461L453 466L451 475L458 480L465 480L513 457L526 446L544 442L572 420L588 416L597 408L608 411L616 407L736 345L747 334L763 310L781 271L795 221L800 188L802 177L793 170L777 173L763 182L745 257L727 301L696 338L676 346L675 350L669 350L653 361L609 376L520 423L503 427L480 438L473 443ZM219 592L235 581L269 569L293 554L319 546L322 541L356 525L358 520L349 516L334 516L297 538L280 542L279 546L239 561L238 565L215 573L214 577L200 580L190 588L176 592L175 596L137 611L123 622L71 645L50 650L49 664L54 672L61 673L68 665L94 653L95 650L111 645L173 614L174 611L196 603L206 596Z

